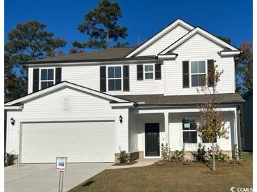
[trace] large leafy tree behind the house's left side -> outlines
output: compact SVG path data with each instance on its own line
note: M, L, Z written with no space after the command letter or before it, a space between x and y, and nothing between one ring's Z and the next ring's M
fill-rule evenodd
M27 93L27 69L20 62L54 56L56 48L66 44L63 39L54 38L54 34L47 32L45 27L37 20L31 20L25 24L18 23L8 33L4 46L4 93L11 99Z

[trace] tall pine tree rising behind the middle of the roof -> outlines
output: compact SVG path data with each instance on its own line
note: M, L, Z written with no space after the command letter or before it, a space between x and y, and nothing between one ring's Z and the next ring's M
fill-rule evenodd
M100 1L96 8L84 15L85 22L77 26L81 34L87 34L88 40L82 43L74 41L73 46L99 49L108 48L112 43L118 43L117 46L127 46L128 43L118 42L120 38L125 39L127 36L127 27L118 25L121 15L117 2Z

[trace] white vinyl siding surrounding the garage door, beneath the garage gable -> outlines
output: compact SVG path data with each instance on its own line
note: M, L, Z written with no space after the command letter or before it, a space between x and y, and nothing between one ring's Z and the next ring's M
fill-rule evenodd
M72 95L72 108L63 111L63 95ZM118 120L123 116L123 123ZM128 151L128 109L111 109L109 101L88 95L87 93L63 88L44 97L39 97L24 104L23 111L8 111L8 116L15 119L11 125L8 118L7 152L19 153L20 123L49 121L115 121L115 153L119 146Z

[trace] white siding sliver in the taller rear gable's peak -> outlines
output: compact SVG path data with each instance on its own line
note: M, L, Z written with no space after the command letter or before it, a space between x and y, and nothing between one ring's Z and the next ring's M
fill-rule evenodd
M189 31L187 29L184 29L184 27L178 25L177 27L175 27L175 29L168 32L168 34L165 34L165 36L161 37L161 39L158 39L158 41L151 44L151 46L149 46L145 50L142 50L142 52L139 53L137 56L157 55L188 32Z

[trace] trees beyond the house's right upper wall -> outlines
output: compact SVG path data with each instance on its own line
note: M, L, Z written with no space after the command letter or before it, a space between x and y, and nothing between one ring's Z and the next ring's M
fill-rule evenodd
M253 88L253 43L242 42L242 53L236 60L237 92L244 94Z

